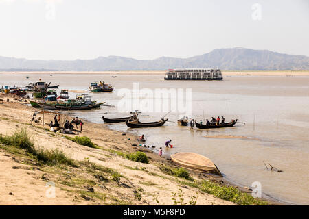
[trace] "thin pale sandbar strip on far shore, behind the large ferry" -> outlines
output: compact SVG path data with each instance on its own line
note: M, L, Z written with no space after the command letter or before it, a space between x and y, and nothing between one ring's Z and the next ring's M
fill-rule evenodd
M119 70L119 71L34 71L34 72L0 72L5 74L76 74L76 75L83 75L83 74L106 74L106 75L165 75L165 71L163 70ZM292 70L261 70L261 71L225 71L222 70L222 76L286 76L286 77L293 77L293 76L309 76L309 70L304 71L292 71Z

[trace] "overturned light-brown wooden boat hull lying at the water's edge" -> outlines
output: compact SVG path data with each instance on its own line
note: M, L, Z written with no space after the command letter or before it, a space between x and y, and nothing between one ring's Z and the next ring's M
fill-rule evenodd
M209 172L222 177L222 174L216 164L214 164L211 159L203 155L191 152L181 152L171 155L170 158L178 166L182 166L190 170L196 170L198 172Z

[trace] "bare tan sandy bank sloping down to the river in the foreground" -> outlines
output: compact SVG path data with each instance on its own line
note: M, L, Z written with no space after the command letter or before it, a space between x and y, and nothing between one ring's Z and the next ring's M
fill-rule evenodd
M27 161L28 158L0 149L1 205L173 205L172 194L179 189L183 191L186 202L197 195L196 205L235 205L190 186L190 181L162 172L161 165L172 167L174 165L169 160L159 157L157 153L132 146L137 144L136 136L113 131L102 124L85 121L83 131L81 133L76 131L76 133L78 136L91 138L100 146L100 149L81 146L64 138L63 135L43 129L43 125L29 125L33 112L34 108L14 102L13 99L10 99L10 103L0 104L0 134L11 135L16 130L26 128L33 136L36 147L60 149L79 162L86 159L103 168L119 172L122 175L121 180L119 183L109 180L101 185L95 177L89 175L89 171L82 168L63 170L33 166ZM45 123L49 123L53 117L54 114L45 114ZM65 115L62 115L62 118L64 117ZM45 127L48 126L45 125ZM144 151L150 158L150 164L130 161L111 150L123 153ZM211 175L201 175L191 171L190 175L195 180L214 179L220 181L222 185L227 183L224 179ZM55 198L47 198L45 195L47 181L53 181L56 184ZM90 185L95 193L87 193ZM10 192L12 192L11 195ZM84 193L81 195L81 192ZM141 194L141 199L136 197L136 192Z

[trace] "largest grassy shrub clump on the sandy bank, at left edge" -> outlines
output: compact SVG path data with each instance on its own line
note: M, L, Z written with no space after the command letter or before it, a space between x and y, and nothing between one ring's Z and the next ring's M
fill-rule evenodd
M73 159L67 157L65 153L59 149L36 149L32 137L27 133L27 129L15 131L12 136L0 135L0 144L2 144L4 149L11 152L21 153L19 150L23 150L28 155L37 159L38 162L43 162L43 164L49 166L57 164L75 166Z

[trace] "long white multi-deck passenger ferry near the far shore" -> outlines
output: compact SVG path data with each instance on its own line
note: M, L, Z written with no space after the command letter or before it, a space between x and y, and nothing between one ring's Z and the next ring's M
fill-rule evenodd
M169 69L165 73L165 80L222 80L220 69L213 68L185 68Z

